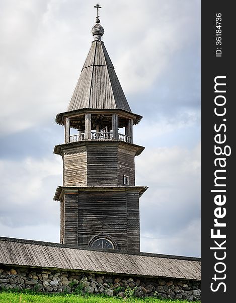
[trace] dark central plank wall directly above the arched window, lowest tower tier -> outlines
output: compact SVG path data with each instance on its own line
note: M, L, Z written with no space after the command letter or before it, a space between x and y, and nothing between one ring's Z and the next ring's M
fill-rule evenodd
M113 238L118 249L127 249L126 192L80 191L78 242L86 247L101 232Z

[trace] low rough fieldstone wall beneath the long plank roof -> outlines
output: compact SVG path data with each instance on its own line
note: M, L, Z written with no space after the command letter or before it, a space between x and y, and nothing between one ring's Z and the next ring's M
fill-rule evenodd
M43 268L0 266L0 289L32 289L45 292L105 293L125 297L159 296L200 300L200 281L102 275ZM127 289L125 291L125 289Z

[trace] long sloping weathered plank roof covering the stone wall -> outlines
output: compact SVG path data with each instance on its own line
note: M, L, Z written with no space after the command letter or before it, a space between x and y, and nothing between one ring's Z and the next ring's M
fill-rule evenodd
M0 263L61 270L200 280L200 259L82 249L76 246L0 237Z

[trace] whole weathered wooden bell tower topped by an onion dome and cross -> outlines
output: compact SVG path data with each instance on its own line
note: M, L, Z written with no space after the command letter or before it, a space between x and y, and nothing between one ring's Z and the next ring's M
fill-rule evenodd
M133 143L133 125L142 117L130 110L98 17L68 109L56 116L65 129L64 144L54 148L63 160L63 186L54 197L61 204L60 242L137 252L139 197L147 187L135 186L134 157L144 147Z

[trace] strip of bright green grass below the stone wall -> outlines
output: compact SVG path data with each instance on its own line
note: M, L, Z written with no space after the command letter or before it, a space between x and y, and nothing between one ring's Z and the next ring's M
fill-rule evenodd
M157 298L128 298L124 300L117 297L108 297L104 295L74 295L74 294L44 294L33 291L0 291L1 303L189 303L186 300L169 300ZM192 303L200 303L195 301Z

